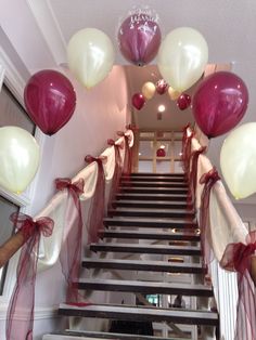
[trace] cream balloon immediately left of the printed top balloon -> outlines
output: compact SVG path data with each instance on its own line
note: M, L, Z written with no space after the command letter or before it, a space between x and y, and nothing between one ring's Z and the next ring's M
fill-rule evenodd
M107 76L114 58L111 39L95 28L78 30L67 45L68 67L87 89L93 88Z

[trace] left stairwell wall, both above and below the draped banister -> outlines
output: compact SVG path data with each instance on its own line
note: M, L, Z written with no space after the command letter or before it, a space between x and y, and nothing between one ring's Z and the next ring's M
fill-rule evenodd
M77 108L71 121L55 135L46 136L42 144L41 165L36 178L31 214L39 212L55 192L57 176L74 176L86 166L87 154L98 156L106 147L106 140L116 139L116 131L124 130L127 113L127 89L121 66L115 66L108 77L89 92L72 79L77 93ZM87 237L87 235L85 235ZM14 274L14 273L13 273ZM60 263L39 273L36 285L35 339L63 328L65 319L53 317L61 302L65 301L65 283ZM101 300L104 297L101 297ZM0 340L4 335L4 314L0 317Z

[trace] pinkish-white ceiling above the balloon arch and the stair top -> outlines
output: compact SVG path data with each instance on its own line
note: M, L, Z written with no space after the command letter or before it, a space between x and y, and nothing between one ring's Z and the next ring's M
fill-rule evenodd
M141 91L145 81L155 82L162 78L156 60L150 66L135 67L129 65L119 52L117 30L129 12L135 9L148 8L158 15L163 38L177 27L188 26L197 29L208 43L209 63L233 63L234 70L234 66L241 61L246 63L243 66L252 61L255 64L255 57L252 51L248 51L254 49L256 55L256 48L251 42L256 29L254 0L24 0L22 2L2 0L2 2L1 27L9 39L11 38L28 73L65 65L66 47L72 36L82 28L98 28L113 41L115 63L125 65L130 99L133 93ZM242 27L246 28L246 35ZM26 51L24 44L28 47ZM251 77L251 74L247 73L247 76ZM191 94L193 90L190 90ZM132 107L131 101L127 104L133 112L135 122L142 129L180 130L187 122L193 122L191 109L179 110L176 102L170 101L167 93L155 94L151 101L146 101L140 112ZM166 110L162 119L157 120L159 104L164 104Z

